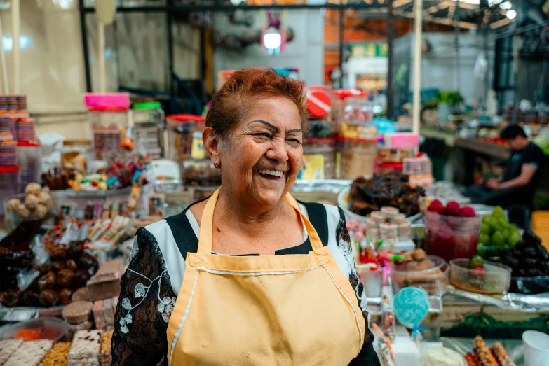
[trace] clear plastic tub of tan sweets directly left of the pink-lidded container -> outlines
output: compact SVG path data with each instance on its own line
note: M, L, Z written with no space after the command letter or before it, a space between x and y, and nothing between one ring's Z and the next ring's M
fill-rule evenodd
M359 176L372 178L376 160L377 140L339 139L342 179Z

